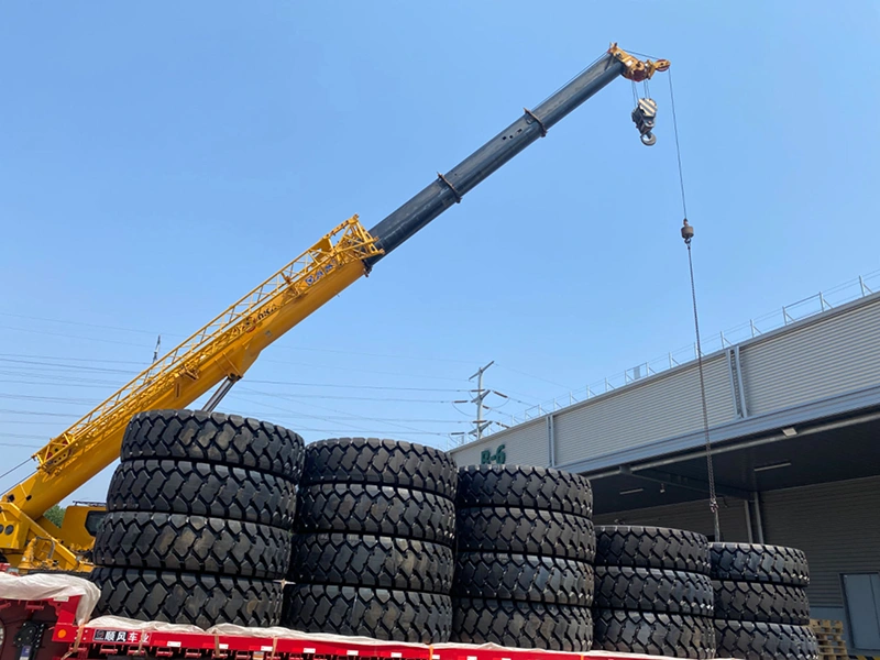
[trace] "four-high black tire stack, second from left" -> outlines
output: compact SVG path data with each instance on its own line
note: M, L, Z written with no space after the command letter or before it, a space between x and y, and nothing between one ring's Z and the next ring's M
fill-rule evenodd
M365 438L309 444L284 625L448 641L455 488L455 462L437 449Z

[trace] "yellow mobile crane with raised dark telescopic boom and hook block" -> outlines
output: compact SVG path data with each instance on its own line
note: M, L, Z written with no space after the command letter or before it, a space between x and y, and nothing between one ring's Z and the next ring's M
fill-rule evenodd
M133 415L183 408L217 387L205 405L213 410L260 353L362 276L407 239L462 200L563 117L612 80L634 82L667 70L666 59L640 61L612 44L608 51L537 108L404 204L370 231L358 216L345 220L309 250L157 360L69 429L34 454L31 476L0 498L0 562L19 571L89 571L100 505L70 506L62 527L44 513L119 458ZM654 143L656 105L641 99L631 119L641 141Z

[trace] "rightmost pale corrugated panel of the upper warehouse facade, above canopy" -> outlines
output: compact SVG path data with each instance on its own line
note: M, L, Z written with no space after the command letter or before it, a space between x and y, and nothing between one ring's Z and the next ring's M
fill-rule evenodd
M880 305L818 319L741 350L749 415L880 382Z

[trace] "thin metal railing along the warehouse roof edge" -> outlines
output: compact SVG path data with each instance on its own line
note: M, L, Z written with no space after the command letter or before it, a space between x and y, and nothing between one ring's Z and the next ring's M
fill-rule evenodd
M749 319L747 322L729 330L718 332L717 334L704 336L701 338L703 356L741 341L759 337L770 330L776 330L795 321L822 314L823 311L828 311L845 302L864 298L876 292L880 292L880 271L873 271L867 275L859 275L856 279L850 279L849 282L845 282L844 284L824 292L818 292L817 294L792 302L791 305L784 305L781 309ZM510 425L522 424L529 419L542 417L553 410L559 410L560 408L571 406L579 402L591 399L620 387L626 387L637 381L641 381L648 376L662 373L694 360L696 360L696 342L675 351L670 351L666 355L639 363L624 372L586 385L581 389L569 392L554 399L526 408L520 415L510 416ZM505 419L505 422L506 421ZM493 426L505 428L507 425ZM487 429L483 436L491 435L492 430L495 429Z

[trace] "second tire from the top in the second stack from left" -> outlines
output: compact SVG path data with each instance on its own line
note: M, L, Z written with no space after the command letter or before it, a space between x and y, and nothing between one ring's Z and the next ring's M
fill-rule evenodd
M443 543L455 540L455 504L426 491L316 484L299 491L297 531L343 531Z

